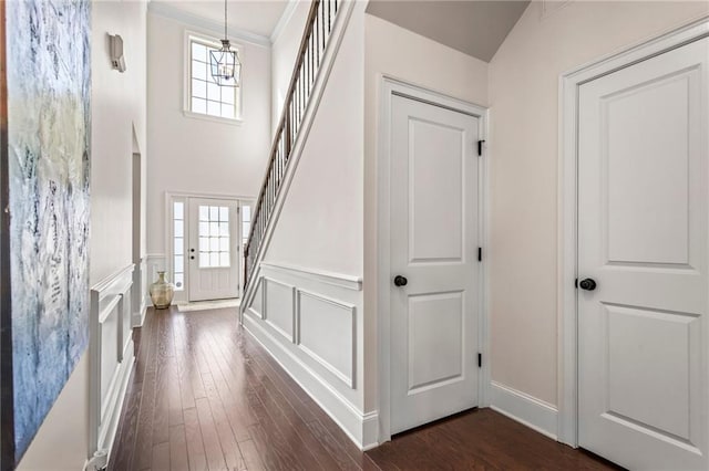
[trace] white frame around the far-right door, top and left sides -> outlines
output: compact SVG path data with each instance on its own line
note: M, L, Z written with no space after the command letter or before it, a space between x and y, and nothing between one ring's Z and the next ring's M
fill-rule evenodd
M578 447L577 140L578 88L586 82L709 36L709 17L563 74L558 151L558 441Z

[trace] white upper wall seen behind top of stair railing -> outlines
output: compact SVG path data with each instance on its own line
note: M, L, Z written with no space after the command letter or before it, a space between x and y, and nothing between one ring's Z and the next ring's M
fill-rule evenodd
M296 54L305 32L310 2L291 0L284 12L284 21L287 20L271 38L270 64L271 64L271 129L276 129L280 121L280 112L288 93L288 85L296 66Z

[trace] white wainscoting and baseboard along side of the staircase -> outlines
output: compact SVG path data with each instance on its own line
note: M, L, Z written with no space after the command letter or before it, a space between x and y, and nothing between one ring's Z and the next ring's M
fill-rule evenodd
M242 305L244 327L361 449L377 446L363 410L362 281L264 263Z

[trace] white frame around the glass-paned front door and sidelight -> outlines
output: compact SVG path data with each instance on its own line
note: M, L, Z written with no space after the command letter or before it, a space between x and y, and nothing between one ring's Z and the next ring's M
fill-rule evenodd
M243 205L249 205L251 206L251 210L253 210L253 206L254 206L254 200L255 198L253 196L235 196L235 195L222 195L222 193L198 193L198 192L191 192L191 191L165 191L165 272L167 273L167 276L169 279L169 281L173 281L171 279L171 275L173 273L173 263L174 263L174 255L175 255L175 248L174 248L174 224L173 224L173 202L174 201L184 201L185 206L184 206L184 211L185 211L185 233L187 233L188 226L187 226L187 221L188 221L188 217L189 217L189 208L187 205L187 201L189 198L203 198L203 199L220 199L220 200L228 200L228 201L236 201L237 208L238 208L238 221L237 221L237 232L238 232L238 241L239 241L239 252L238 252L238 271L239 271L239 291L238 291L238 296L239 299L242 299L244 296L244 250L242 248L242 206ZM185 237L185 240L187 240L188 237ZM187 263L187 252L186 252L186 248L185 248L185 263ZM188 283L189 283L189 270L187 270L187 266L185 265L185 286L184 290L181 292L175 292L175 300L173 302L173 304L185 304L187 302L189 302L189 294L188 294Z

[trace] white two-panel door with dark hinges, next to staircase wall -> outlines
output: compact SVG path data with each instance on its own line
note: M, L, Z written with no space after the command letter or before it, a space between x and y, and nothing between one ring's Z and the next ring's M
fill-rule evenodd
M477 405L479 118L401 96L391 116L397 433Z

